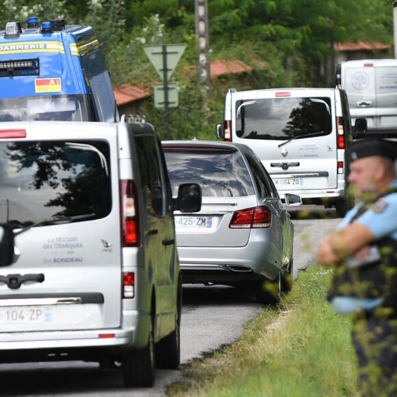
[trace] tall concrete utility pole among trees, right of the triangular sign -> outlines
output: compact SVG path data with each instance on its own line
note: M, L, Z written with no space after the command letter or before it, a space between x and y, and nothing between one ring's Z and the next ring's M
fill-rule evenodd
M199 60L197 62L197 77L209 89L209 31L208 31L208 0L194 0L196 16L196 36L199 39Z

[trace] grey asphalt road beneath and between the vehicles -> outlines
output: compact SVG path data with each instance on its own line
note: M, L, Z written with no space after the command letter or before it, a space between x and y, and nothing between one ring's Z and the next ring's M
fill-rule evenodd
M298 272L314 264L318 242L340 219L332 210L312 207L292 212L295 225L294 266ZM325 216L325 218L322 218ZM232 287L185 285L181 318L181 365L201 359L240 337L244 323L264 307L250 292ZM165 396L167 387L182 381L181 370L157 370L151 389L126 389L121 371L99 370L97 364L65 363L1 364L1 396Z

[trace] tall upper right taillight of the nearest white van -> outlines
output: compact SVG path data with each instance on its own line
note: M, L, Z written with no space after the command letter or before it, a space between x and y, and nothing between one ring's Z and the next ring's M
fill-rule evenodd
M120 224L121 245L138 246L140 244L138 195L136 185L131 179L120 181Z

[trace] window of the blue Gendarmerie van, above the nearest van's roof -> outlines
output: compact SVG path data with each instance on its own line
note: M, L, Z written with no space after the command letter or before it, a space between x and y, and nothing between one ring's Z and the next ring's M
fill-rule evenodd
M36 96L0 99L1 121L88 121L84 95Z

